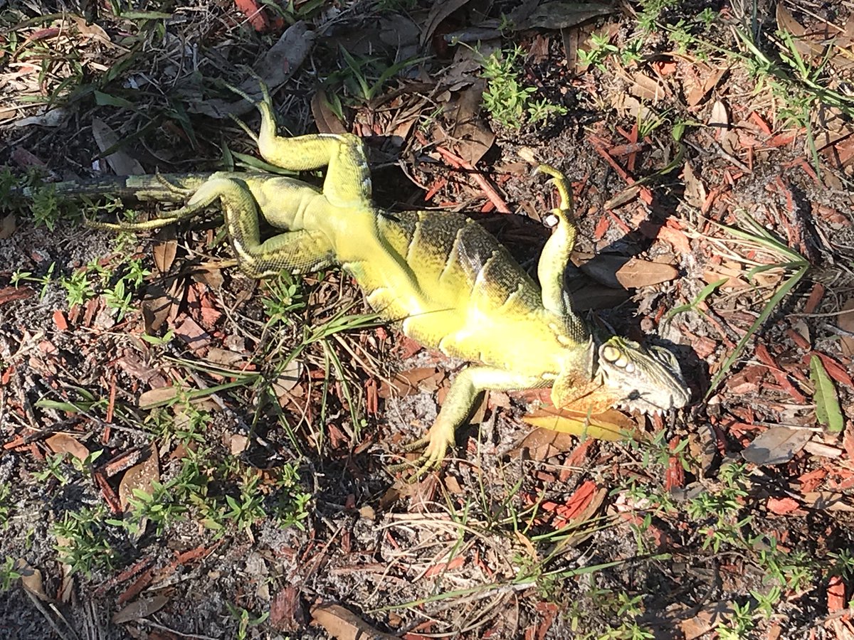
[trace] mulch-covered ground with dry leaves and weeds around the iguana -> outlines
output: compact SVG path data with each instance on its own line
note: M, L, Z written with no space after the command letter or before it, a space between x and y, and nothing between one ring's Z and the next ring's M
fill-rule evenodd
M854 637L850 7L0 9L0 637ZM259 81L532 274L565 172L576 309L691 404L488 393L408 482L465 363L340 271L242 276L215 207L117 234L82 218L176 205L38 186L276 171Z

